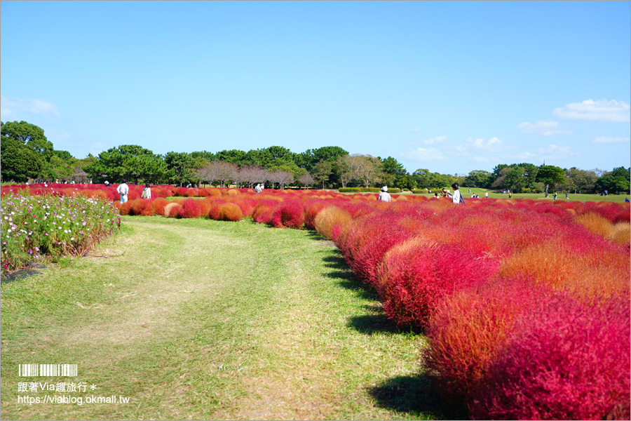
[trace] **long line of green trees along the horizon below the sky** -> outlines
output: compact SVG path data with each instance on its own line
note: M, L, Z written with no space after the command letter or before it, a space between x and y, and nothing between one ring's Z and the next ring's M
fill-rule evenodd
M540 193L562 189L574 193L624 193L630 190L631 168L613 171L576 167L536 166L532 163L499 164L492 172L476 170L468 175L433 173L419 168L408 173L391 156L349 154L337 146L294 153L271 146L244 152L168 152L154 154L138 145L121 145L98 156L76 159L55 150L38 126L26 121L0 122L1 180L3 182L62 181L152 185L239 185L253 187L372 187L438 189L458 182L462 187L510 189L515 193Z

